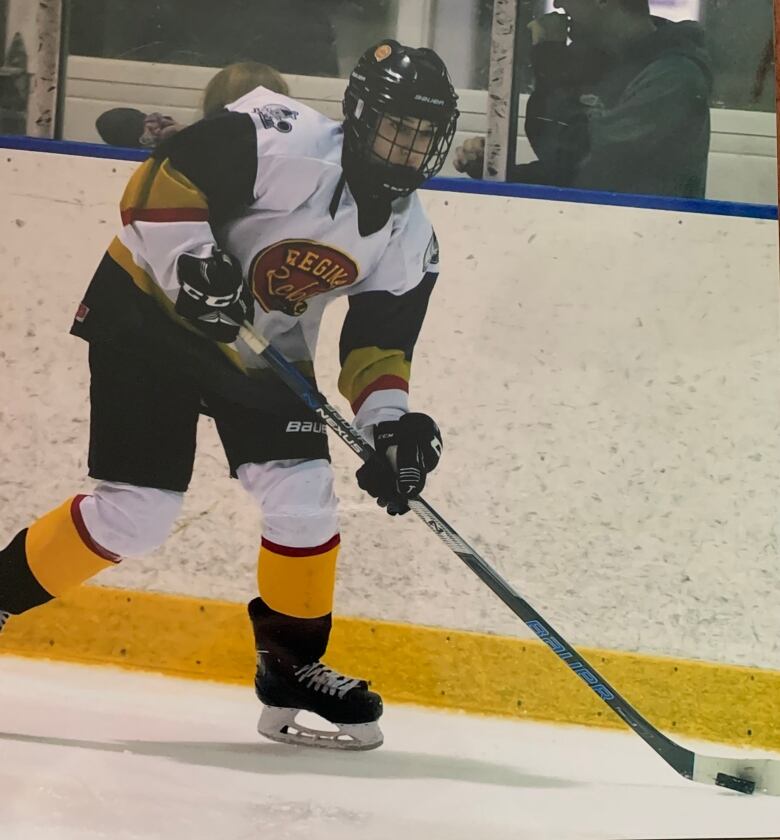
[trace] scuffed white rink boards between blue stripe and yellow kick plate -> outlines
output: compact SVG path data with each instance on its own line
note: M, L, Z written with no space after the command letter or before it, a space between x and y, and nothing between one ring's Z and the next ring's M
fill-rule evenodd
M5 151L3 538L89 487L86 345L67 335L133 164ZM774 222L424 192L443 274L412 406L442 426L426 498L572 642L780 668ZM336 399L340 311L320 342ZM424 527L353 486L337 612L524 628ZM100 582L243 601L259 520L201 424L185 512Z

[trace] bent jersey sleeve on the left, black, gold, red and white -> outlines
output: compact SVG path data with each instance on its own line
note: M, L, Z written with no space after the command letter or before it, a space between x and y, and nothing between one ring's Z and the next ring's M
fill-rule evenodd
M171 137L135 171L119 241L169 298L179 291L179 256L210 254L220 219L254 200L257 168L253 121L223 112Z

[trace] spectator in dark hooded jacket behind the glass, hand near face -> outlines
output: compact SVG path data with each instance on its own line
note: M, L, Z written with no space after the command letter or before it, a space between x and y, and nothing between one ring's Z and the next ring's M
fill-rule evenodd
M556 0L529 25L534 92L526 135L537 160L510 181L703 198L712 74L704 31L653 17L647 0ZM568 42L567 42L568 41ZM482 177L484 138L455 153Z

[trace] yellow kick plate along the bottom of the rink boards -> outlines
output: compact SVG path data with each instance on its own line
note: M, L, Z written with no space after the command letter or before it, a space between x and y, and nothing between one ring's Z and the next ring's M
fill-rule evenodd
M10 622L0 650L251 686L243 605L89 586ZM780 673L583 649L660 729L780 749ZM370 678L388 702L623 729L616 715L535 641L337 617L328 662Z

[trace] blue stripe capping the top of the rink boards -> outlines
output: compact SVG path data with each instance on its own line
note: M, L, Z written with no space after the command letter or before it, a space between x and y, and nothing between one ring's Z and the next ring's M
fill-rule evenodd
M99 143L75 143L66 140L43 140L37 137L0 135L0 148L58 155L108 158L111 160L146 160L146 149L123 149ZM699 198L672 198L656 195L572 190L536 184L506 184L499 181L475 181L471 178L433 178L423 189L442 192L496 195L507 198L530 198L541 201L568 201L572 204L606 204L614 207L638 207L646 210L672 210L677 213L704 213L710 216L741 216L748 219L777 219L777 205L748 204L738 201L714 201Z

